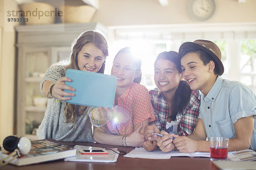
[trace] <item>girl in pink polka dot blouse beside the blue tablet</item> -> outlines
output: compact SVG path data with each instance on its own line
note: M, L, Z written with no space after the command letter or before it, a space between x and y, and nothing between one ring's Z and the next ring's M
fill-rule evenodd
M96 142L142 147L145 141L144 128L155 117L148 90L139 84L140 65L140 59L134 57L128 47L116 54L111 69L111 75L117 77L114 102L116 109L100 107L92 112L93 119L110 119L104 126L95 125L93 138Z

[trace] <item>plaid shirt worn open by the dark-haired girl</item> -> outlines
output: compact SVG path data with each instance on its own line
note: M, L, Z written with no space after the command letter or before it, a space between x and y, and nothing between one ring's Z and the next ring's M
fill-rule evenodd
M155 124L160 131L166 131L166 122L168 118L168 104L166 98L158 88L149 91L149 96L156 118L153 122L149 122L149 125ZM198 120L199 105L199 91L192 91L190 100L186 107L177 113L177 135L187 136L194 132L195 125Z

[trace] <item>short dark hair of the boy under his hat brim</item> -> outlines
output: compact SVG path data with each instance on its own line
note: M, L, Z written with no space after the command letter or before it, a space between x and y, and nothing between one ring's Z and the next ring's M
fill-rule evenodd
M180 53L179 53L179 58L181 59L184 55L188 54L188 53L196 53L199 55L201 61L204 63L204 65L207 65L210 61L214 62L215 68L213 70L215 75L218 75L218 64L215 61L215 59L213 59L207 52L199 49L199 48L195 48L195 47L191 47L191 48L183 48Z

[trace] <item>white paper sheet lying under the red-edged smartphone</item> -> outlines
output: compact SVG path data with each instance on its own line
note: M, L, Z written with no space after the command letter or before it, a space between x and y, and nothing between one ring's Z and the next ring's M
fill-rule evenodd
M102 149L102 147L89 147L89 146L81 146L76 145L74 148L76 150L76 157L65 158L65 161L82 161L82 162L116 162L119 151L115 148L111 148L117 153L113 152L112 150L108 150L108 155L81 155L79 150L86 150L86 149Z

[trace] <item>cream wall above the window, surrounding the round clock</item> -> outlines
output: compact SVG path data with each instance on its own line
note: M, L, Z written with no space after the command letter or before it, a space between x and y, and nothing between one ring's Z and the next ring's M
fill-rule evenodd
M92 22L106 26L198 23L187 12L189 0L169 0L160 6L158 0L99 0ZM215 15L204 23L256 22L256 0L215 0Z

